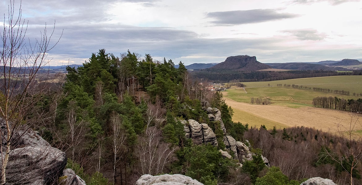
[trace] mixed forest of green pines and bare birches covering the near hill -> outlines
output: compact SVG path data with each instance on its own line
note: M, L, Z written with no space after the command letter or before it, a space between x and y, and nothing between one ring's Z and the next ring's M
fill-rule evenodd
M66 168L91 185L134 184L143 174L164 173L206 185L296 185L317 176L338 184L362 182L360 141L302 126L267 130L262 123L260 128L235 123L223 95L193 79L182 62L179 66L165 58L154 61L150 54L127 51L115 57L100 49L82 67L67 67L66 76L34 76L31 91L11 99L22 106L7 119L65 151ZM7 90L16 94L24 86L2 88L1 107L6 107ZM252 160L222 156L220 149L236 155L223 144L221 125L210 121L204 106L220 110L227 135L245 143L255 154ZM186 137L181 120L189 119L207 124L219 145ZM351 123L359 122L352 116Z

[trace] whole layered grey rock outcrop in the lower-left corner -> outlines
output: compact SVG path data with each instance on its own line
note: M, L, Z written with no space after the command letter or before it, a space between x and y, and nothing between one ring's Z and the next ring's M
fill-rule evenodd
M4 120L0 118L2 133L6 133L4 124ZM49 185L57 182L67 164L66 154L51 147L47 141L30 129L15 131L12 136L13 147L6 168L7 184ZM6 146L4 138L2 144ZM4 153L1 155L5 156ZM71 183L66 182L64 185Z

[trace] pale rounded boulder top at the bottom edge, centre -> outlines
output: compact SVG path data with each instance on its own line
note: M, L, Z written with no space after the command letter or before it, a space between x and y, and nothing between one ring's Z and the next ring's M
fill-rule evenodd
M142 175L136 185L203 185L201 182L192 179L191 177L174 174L174 175Z

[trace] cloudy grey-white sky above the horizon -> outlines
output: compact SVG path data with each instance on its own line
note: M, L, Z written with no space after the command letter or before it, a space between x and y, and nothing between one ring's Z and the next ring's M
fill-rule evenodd
M0 0L5 18L9 4ZM362 58L361 0L22 0L21 16L30 42L55 26L51 66L81 64L99 49L185 65L237 55L262 63Z

